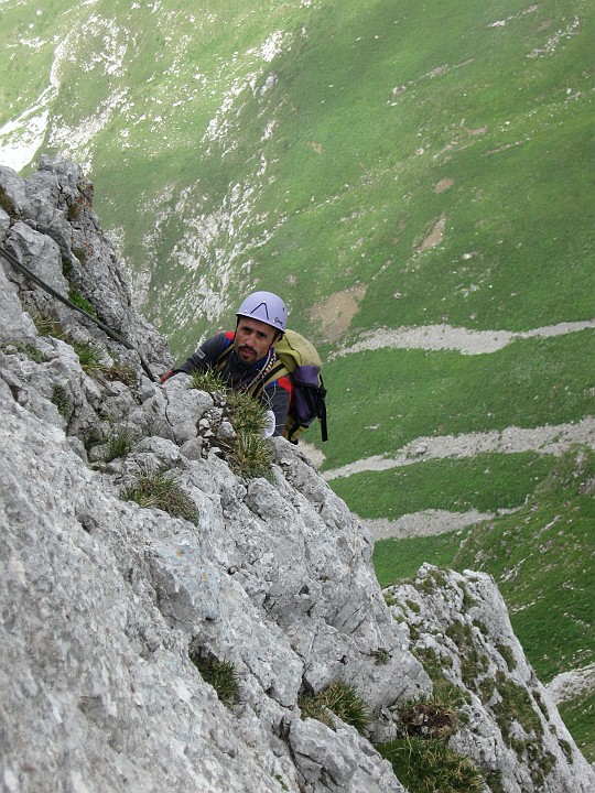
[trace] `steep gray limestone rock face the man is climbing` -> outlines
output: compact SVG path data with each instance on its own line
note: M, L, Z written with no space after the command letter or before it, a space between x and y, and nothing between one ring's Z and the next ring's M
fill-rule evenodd
M0 167L0 243L163 371L91 194L66 161ZM155 384L6 261L0 308L3 790L405 791L374 743L444 678L465 715L450 742L491 790L593 790L490 579L424 567L383 595L370 536L298 448L274 439L272 480L239 477L216 395ZM151 472L185 517L122 498ZM239 697L191 655L231 665ZM364 734L302 718L337 681L368 703Z

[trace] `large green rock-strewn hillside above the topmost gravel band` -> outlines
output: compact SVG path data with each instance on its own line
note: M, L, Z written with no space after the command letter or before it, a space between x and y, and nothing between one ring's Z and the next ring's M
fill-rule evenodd
M321 344L312 307L354 283L367 291L351 332L592 318L586 0L180 0L159 13L52 0L40 14L25 0L0 18L0 121L40 96L55 37L76 29L44 149L89 163L101 220L176 355L257 282ZM264 59L273 34L285 44Z

